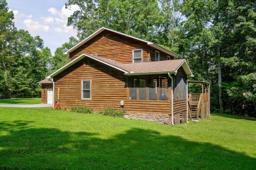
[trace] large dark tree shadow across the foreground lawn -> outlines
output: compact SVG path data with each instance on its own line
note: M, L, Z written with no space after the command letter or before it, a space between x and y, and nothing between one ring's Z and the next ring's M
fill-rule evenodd
M209 143L133 128L96 133L0 124L0 169L254 169L256 159Z

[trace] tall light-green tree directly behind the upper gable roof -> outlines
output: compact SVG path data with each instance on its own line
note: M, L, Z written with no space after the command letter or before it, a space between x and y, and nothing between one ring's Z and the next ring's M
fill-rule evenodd
M100 27L108 27L142 39L156 39L161 13L156 0L69 0L66 8L78 5L68 18L68 25L78 30L79 39L91 35Z

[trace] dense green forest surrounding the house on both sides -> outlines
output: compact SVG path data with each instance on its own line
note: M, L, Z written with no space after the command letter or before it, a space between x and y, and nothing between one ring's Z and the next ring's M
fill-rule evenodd
M66 50L100 27L156 42L185 58L193 80L211 82L211 109L256 116L256 3L249 0L68 0L77 29L54 56L17 30L0 1L0 98L38 97L37 82L67 63ZM193 87L190 87L193 88Z

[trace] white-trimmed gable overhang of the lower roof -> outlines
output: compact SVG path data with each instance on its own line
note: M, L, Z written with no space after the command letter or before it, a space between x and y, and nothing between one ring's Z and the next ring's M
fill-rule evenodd
M78 61L80 61L81 59L83 58L91 58L91 59L94 59L100 63L104 63L105 65L108 65L110 67L113 67L119 71L123 71L124 73L128 73L127 71L123 70L123 69L120 69L119 67L116 67L114 65L111 65L109 63L106 63L104 61L101 61L100 59L96 59L96 58L93 58L93 56L89 56L88 54L81 54L80 56L78 56L77 58L75 58L74 60L70 61L69 63L67 63L66 65L64 65L63 67L61 67L60 69L56 70L53 74L47 76L46 78L53 78L54 76L58 75L59 73L61 73L62 71L64 71L65 69L68 69L68 67L74 65L75 63L77 63Z

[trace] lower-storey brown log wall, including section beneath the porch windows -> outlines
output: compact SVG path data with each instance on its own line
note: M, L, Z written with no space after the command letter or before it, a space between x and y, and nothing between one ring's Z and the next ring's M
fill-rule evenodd
M91 80L91 99L81 99L81 80ZM170 101L133 101L128 99L127 76L93 59L81 59L54 76L54 100L60 88L60 107L91 107L102 112L107 107L120 109L124 101L127 112L170 114Z

